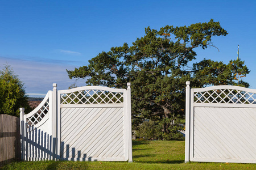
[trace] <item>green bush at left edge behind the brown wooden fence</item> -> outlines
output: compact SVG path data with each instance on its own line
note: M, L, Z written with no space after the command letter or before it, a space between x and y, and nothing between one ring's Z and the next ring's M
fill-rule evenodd
M0 71L0 114L19 116L19 108L30 111L28 97L23 83L14 75L13 69L6 65Z

